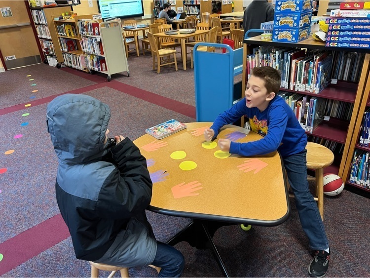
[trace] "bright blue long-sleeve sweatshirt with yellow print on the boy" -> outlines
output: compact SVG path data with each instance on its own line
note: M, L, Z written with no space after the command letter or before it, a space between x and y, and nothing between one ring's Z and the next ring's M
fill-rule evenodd
M211 126L215 131L215 138L223 125L235 122L243 115L249 118L252 130L264 138L248 143L231 142L231 154L249 157L278 150L285 158L300 153L307 145L305 131L293 110L280 96L275 96L262 112L257 107L248 108L246 99L243 98L215 119Z

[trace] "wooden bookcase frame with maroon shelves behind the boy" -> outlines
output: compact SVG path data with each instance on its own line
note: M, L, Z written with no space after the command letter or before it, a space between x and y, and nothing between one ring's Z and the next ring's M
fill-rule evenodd
M338 80L336 85L330 84L328 88L321 91L319 94L309 93L307 91L295 91L281 88L282 91L296 92L302 95L310 95L320 98L327 98L333 100L339 100L343 102L353 103L353 111L349 122L339 119L331 118L329 121L322 121L316 129L313 130L313 136L320 137L323 139L338 142L344 145L342 155L336 155L334 163L325 168L326 173L335 173L346 182L349 176L350 164L353 159L354 149L357 145L357 138L360 133L361 121L366 107L370 107L369 99L369 70L370 70L370 49L353 49L353 48L336 48L336 47L325 47L324 42L313 40L309 38L302 40L298 43L284 43L284 42L273 42L260 40L260 36L244 40L243 48L243 75L242 75L242 97L244 97L244 91L246 87L246 67L247 67L247 55L251 53L251 46L256 45L273 45L283 47L300 47L306 49L323 49L323 50L335 50L335 51L351 51L351 52L362 52L367 53L363 63L359 83L353 83L349 81ZM365 85L367 88L365 88ZM242 119L242 124L244 119ZM306 132L309 134L309 132ZM354 138L356 140L354 140ZM370 150L370 148L369 148ZM348 184L348 183L347 183Z

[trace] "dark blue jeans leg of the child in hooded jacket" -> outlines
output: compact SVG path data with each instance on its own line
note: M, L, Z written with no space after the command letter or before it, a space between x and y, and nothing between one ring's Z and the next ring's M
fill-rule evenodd
M184 270L184 256L174 247L157 241L153 266L160 267L158 277L180 277Z

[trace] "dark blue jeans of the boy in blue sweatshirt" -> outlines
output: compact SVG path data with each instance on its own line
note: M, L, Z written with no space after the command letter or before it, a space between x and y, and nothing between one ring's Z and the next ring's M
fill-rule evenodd
M284 166L295 195L300 223L309 239L310 248L324 250L329 247L329 242L316 201L308 189L306 154L307 150L304 149L299 154L283 158Z

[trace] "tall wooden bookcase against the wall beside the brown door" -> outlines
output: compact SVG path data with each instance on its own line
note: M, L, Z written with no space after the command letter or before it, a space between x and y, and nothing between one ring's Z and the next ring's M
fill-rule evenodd
M43 62L45 64L54 65L56 61L63 61L62 52L58 47L57 33L53 27L53 14L71 12L71 5L30 7L30 10L33 24L37 32L37 39L43 52L41 57L45 57Z

